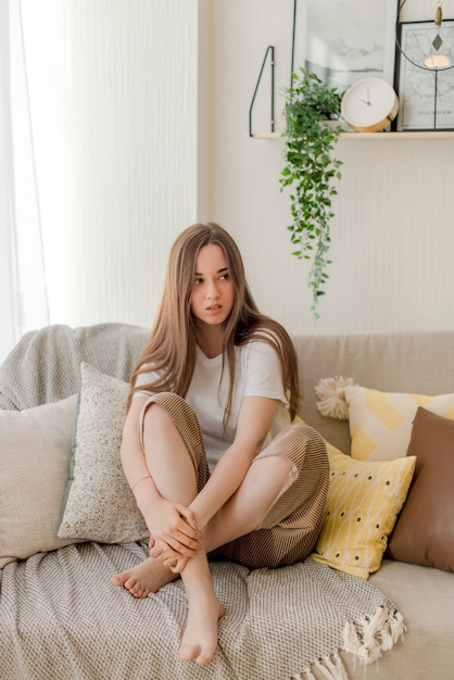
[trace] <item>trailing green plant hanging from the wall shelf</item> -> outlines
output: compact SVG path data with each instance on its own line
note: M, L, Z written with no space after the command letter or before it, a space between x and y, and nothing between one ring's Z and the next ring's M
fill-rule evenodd
M318 299L325 293L326 273L330 264L331 199L337 194L336 180L341 178L342 162L332 150L342 127L338 123L341 96L336 88L321 83L306 68L292 74L287 90L283 115L287 123L281 191L292 187L290 240L293 255L312 261L308 286L312 290L314 318L318 318Z

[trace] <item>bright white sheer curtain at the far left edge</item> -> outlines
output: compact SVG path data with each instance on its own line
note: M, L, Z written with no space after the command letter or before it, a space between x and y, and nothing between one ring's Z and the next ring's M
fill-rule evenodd
M22 5L20 0L0 0L0 11L1 360L24 332L49 323L49 305L31 124L36 102Z

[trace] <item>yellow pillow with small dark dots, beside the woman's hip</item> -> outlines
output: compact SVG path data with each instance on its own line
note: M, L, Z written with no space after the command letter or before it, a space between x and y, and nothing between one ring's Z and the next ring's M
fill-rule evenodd
M365 579L379 569L415 469L415 456L354 461L327 443L330 482L325 521L311 557Z

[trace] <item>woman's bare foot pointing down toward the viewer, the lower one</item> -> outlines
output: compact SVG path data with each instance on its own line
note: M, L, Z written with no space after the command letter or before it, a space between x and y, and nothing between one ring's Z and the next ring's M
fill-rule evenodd
M217 647L217 621L224 612L214 593L202 595L201 600L189 605L188 620L178 650L180 659L194 660L200 666L213 660Z

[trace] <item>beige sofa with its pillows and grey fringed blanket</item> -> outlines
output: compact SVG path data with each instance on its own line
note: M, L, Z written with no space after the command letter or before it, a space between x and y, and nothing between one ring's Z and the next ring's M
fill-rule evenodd
M326 521L292 567L213 562L226 616L206 667L176 655L180 580L141 601L109 578L147 555L118 456L147 333L51 326L0 367L0 677L452 680L454 331L294 338Z

